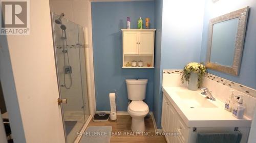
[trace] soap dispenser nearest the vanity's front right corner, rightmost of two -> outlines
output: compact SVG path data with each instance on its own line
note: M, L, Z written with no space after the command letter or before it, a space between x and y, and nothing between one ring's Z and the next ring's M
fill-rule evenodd
M243 96L238 95L240 98L236 104L234 104L232 115L238 119L242 119L244 117L245 106L243 105Z

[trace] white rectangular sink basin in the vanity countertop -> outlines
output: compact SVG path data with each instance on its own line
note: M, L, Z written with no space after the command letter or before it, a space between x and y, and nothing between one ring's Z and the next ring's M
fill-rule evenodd
M182 101L182 104L184 106L189 108L218 108L215 104L210 101L210 99L202 96L197 91L191 91L191 92L176 92L179 96L179 98Z

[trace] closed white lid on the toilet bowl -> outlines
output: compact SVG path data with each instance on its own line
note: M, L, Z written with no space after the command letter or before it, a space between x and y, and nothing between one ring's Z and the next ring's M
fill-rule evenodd
M139 101L132 101L131 104L128 106L132 111L135 112L144 112L148 110L148 106L142 100Z

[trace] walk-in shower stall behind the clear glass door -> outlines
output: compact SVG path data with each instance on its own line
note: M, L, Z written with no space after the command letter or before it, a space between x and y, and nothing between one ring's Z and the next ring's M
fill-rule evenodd
M74 142L89 113L84 27L51 13L55 64L66 142ZM65 100L67 103L65 103Z

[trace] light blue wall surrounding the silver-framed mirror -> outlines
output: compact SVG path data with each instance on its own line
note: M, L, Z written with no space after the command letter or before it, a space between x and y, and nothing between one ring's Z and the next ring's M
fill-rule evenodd
M232 76L214 70L207 70L207 72L256 89L256 1L219 1L218 5L212 4L211 0L206 1L200 61L204 62L206 60L209 19L244 8L246 6L250 7L250 11L239 76Z

